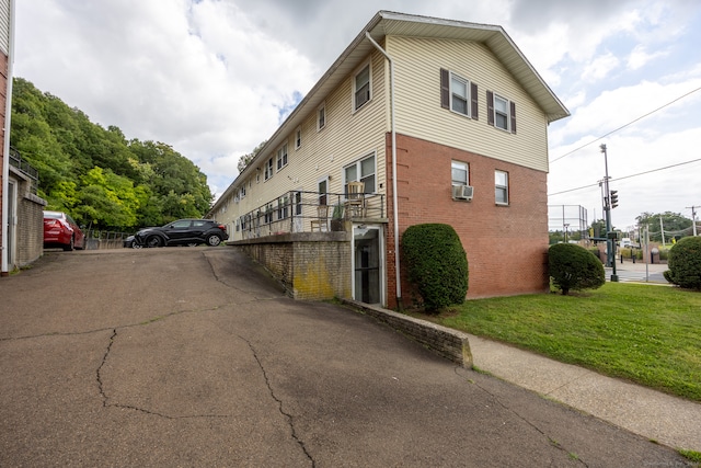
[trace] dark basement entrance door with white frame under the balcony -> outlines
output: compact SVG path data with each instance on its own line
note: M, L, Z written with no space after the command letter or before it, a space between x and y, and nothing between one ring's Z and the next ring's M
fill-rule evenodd
M384 237L381 226L353 226L353 298L381 304L384 277Z

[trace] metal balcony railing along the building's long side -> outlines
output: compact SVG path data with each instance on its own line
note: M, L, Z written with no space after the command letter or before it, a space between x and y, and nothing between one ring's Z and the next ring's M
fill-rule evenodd
M350 207L347 202L347 194L290 191L240 216L232 237L233 240L255 239L290 232L343 230L346 220L384 218L383 194L363 194L360 207ZM324 210L326 216L323 216Z

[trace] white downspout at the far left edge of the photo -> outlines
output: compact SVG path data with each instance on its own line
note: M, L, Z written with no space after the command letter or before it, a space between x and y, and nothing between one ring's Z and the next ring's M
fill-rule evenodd
M8 276L8 236L10 233L10 221L8 217L10 190L10 121L12 119L12 60L14 59L14 2L10 0L10 30L8 31L8 84L4 100L4 128L2 146L2 262L0 265L0 276Z

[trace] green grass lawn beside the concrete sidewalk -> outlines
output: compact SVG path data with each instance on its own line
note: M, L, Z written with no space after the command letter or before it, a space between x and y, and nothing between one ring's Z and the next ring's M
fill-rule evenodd
M425 318L701 401L701 293L607 283L572 296L468 300Z

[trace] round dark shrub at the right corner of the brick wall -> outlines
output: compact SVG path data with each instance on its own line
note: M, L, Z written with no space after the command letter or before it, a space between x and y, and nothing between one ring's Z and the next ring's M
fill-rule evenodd
M548 249L548 267L553 285L570 290L596 289L606 283L601 261L588 250L574 243L558 243Z

